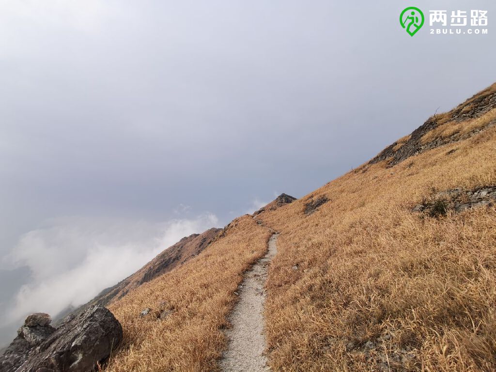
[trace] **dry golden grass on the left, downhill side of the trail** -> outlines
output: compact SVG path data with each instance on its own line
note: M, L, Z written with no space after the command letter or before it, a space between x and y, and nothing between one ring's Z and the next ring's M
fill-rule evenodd
M124 343L106 370L216 370L234 291L243 272L265 254L270 235L251 217L240 217L197 257L112 304ZM140 317L145 308L153 311ZM174 312L157 319L155 312L166 309Z

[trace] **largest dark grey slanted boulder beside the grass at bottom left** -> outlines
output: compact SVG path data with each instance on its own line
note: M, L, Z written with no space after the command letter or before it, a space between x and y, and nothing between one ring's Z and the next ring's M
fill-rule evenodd
M18 371L88 372L106 360L122 340L121 324L114 315L97 305L62 325L31 350ZM15 370L5 370L15 371Z

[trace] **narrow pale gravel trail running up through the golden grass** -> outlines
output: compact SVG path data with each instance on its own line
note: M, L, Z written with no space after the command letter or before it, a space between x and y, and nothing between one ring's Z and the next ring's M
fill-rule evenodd
M277 233L269 240L269 249L245 274L240 285L240 299L229 317L232 328L226 332L228 347L220 361L224 372L270 371L265 350L263 304L267 269L272 257L277 253Z

